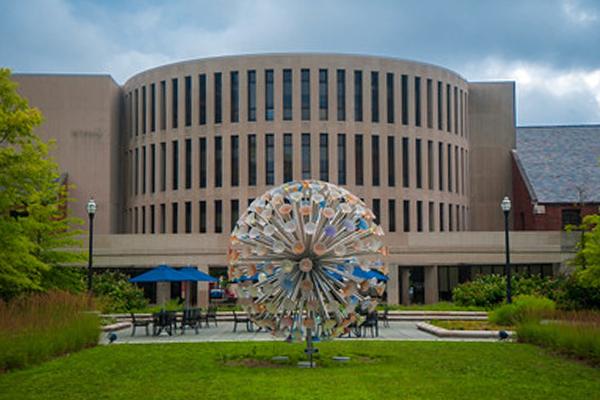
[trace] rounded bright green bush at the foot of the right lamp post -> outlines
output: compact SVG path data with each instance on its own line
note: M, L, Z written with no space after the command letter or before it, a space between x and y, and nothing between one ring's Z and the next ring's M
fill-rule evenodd
M513 303L504 304L489 314L489 320L498 325L516 325L525 321L539 321L556 309L554 301L540 296L520 295Z

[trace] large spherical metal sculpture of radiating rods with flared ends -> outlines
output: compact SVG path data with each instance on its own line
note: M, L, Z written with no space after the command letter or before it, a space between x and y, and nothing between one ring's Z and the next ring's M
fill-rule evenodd
M254 200L228 252L238 304L274 335L323 338L359 323L383 294L383 229L364 202L322 181L285 183ZM375 275L375 277L373 276ZM312 333L311 333L312 332Z

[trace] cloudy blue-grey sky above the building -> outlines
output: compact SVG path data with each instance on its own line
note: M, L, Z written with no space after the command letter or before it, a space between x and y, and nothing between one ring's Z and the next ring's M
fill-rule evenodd
M519 125L600 123L600 0L0 0L0 66L108 73L335 52L514 80Z

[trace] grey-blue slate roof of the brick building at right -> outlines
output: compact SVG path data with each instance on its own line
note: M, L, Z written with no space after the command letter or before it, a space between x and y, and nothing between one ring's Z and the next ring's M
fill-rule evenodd
M516 155L537 203L600 203L600 125L518 127Z

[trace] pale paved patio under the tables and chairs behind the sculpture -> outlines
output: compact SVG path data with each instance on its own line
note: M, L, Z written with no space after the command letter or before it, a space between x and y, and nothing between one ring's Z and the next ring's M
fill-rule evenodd
M115 343L193 343L193 342L243 342L243 341L282 341L281 338L275 338L268 332L247 332L243 324L238 324L238 331L233 332L233 322L222 321L219 326L211 325L210 328L203 327L196 334L193 329L186 329L186 333L181 335L178 329L177 333L169 336L162 333L160 336L146 336L144 328L137 328L135 336L131 336L131 328L116 332L117 340ZM371 338L367 331L367 338L351 339L340 338L336 340L438 340L438 341L494 341L495 339L450 339L439 338L429 333L417 329L417 323L413 321L391 321L389 328L380 327L379 337ZM103 333L100 337L100 344L107 344L107 334Z

